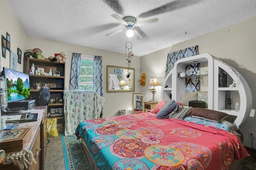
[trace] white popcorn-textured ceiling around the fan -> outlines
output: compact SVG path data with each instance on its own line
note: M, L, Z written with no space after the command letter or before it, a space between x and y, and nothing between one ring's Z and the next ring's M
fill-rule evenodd
M111 14L133 16L142 36L132 52L146 55L256 15L255 0L7 0L27 35L125 53L126 30Z

